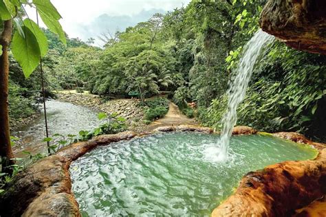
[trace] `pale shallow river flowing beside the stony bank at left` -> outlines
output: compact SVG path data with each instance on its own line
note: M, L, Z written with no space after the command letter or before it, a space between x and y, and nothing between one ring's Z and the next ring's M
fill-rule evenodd
M43 111L43 109L42 109ZM68 102L57 100L47 101L47 122L49 134L78 135L80 130L91 130L100 124L97 119L97 111L87 109L83 106L75 106ZM28 150L32 153L45 152L46 143L43 142L45 135L44 114L34 120L28 126L19 128L12 135L19 137L17 145L14 146L16 157L23 157L22 151Z

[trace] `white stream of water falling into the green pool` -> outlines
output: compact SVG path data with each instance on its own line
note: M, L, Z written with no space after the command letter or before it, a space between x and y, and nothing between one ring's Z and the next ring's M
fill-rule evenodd
M271 36L262 30L254 34L250 41L243 48L243 56L237 68L237 76L228 89L228 107L222 119L223 128L219 139L219 161L225 161L228 156L228 146L232 135L232 128L237 123L237 107L246 96L246 89L252 76L257 58L263 54L266 45L274 41Z

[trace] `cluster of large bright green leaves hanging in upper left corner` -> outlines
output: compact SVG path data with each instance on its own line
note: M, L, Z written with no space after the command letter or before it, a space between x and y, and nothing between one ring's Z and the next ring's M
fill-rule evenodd
M17 31L12 38L12 54L17 62L19 62L19 65L21 65L25 77L28 78L39 65L41 57L45 56L47 52L47 41L39 26L32 20L25 19L23 22L17 21L16 16L20 16L18 14L19 8L25 5L36 8L43 23L52 32L58 34L63 43L66 43L66 41L63 29L58 22L61 16L50 0L33 0L32 2L1 0L1 21L14 19L17 25Z

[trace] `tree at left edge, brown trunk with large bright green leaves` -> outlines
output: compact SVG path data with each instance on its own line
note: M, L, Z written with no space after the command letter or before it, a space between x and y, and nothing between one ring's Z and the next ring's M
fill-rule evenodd
M3 23L3 31L0 37L0 48L2 49L0 58L0 156L2 168L10 172L9 165L14 163L12 153L9 129L9 109L8 109L8 73L10 48L14 58L19 62L23 73L28 78L39 65L41 58L47 53L47 38L39 26L29 18L23 19L20 10L23 7L31 6L36 8L36 12L50 31L58 34L59 38L65 43L65 33L58 22L61 15L58 13L50 0L0 0L0 16ZM15 21L17 30L12 38L13 21Z

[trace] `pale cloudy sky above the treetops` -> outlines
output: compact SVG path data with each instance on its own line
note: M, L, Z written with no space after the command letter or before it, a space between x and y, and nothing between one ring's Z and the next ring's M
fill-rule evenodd
M187 5L191 0L52 0L63 16L60 23L70 38L96 38L104 32L116 30L148 20L155 12L164 13ZM27 6L28 7L28 6ZM26 8L35 19L32 8ZM43 25L43 24L41 24Z

